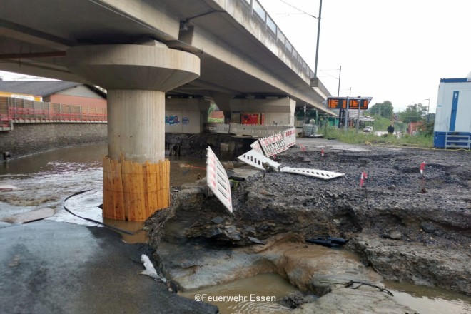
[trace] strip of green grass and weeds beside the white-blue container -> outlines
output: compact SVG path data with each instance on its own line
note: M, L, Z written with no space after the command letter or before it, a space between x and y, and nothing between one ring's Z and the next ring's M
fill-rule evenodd
M319 132L324 135L324 138L335 139L345 143L359 144L359 143L390 143L393 145L407 145L417 146L420 148L433 148L433 137L427 135L410 136L404 134L402 136L393 136L385 134L383 136L376 136L374 133L365 133L362 130L356 129L339 129L334 126L323 127Z

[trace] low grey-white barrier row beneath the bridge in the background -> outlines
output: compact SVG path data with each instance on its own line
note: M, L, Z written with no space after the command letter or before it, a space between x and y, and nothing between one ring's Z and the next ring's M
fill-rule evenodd
M251 136L261 138L271 136L293 128L293 126L261 126L259 124L239 123L206 123L205 131L208 133L233 134L235 136Z

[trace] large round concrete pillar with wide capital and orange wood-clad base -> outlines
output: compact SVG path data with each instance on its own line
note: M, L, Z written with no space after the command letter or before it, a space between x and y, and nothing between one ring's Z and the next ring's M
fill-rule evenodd
M200 60L156 41L76 46L69 71L108 91L103 217L145 221L170 205L165 92L199 76Z

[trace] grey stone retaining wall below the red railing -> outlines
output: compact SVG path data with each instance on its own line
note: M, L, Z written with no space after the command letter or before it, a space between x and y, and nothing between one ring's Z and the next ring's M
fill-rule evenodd
M0 153L11 158L88 143L106 143L106 123L15 123L0 132ZM0 161L1 161L0 157Z

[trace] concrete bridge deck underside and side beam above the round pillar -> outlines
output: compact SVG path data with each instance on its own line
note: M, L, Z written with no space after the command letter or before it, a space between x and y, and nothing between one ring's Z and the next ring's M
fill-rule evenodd
M309 77L287 66L280 59L283 51L277 56L259 41L267 30L253 21L253 29L240 24L258 21L247 16L245 1L0 0L0 6L6 8L0 11L4 71L96 84L67 67L67 49L156 39L201 59L201 76L168 94L288 96L297 106L326 111L321 103L328 92L311 87Z

